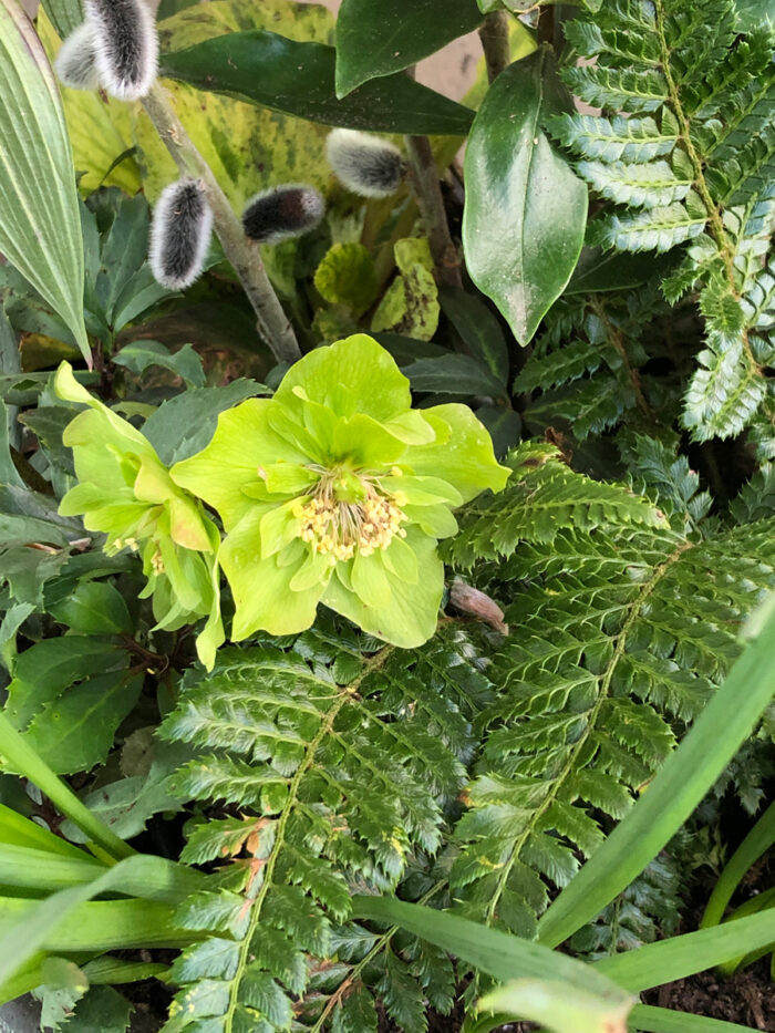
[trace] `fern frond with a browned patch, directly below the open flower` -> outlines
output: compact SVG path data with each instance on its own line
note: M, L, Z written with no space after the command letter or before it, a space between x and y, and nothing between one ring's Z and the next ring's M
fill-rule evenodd
M182 990L165 1033L314 1022L308 1004L320 1012L342 980L358 995L348 1003L339 993L324 1022L373 1026L360 975L314 959L331 958L352 887L391 889L407 858L437 849L473 753L472 723L493 695L472 640L453 624L420 650L364 648L374 643L323 626L286 650L223 650L211 674L184 680L163 734L200 754L176 789L218 800L226 816L194 822L183 859L225 867L177 916L208 937L175 963ZM386 1005L394 1000L397 1014L400 1000L405 1027L420 1030L424 1005L412 1025L407 1002L428 996L441 961L405 953L375 958L382 970L368 973L369 985L384 983Z

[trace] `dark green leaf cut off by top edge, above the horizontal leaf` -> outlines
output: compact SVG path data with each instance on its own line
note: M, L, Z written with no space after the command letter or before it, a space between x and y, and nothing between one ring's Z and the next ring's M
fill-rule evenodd
M401 72L482 22L476 0L342 0L337 19L337 96Z

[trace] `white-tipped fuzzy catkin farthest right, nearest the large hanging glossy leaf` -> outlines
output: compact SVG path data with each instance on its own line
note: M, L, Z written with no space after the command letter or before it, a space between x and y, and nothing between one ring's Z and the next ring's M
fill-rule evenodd
M401 186L404 163L397 147L358 130L333 130L326 141L337 178L361 197L390 197Z

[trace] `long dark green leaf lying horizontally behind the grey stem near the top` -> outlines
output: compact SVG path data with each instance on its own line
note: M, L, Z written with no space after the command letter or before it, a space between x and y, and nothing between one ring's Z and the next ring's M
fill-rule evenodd
M474 113L402 73L366 83L342 101L337 52L276 32L231 32L166 54L162 74L323 125L378 133L465 136Z

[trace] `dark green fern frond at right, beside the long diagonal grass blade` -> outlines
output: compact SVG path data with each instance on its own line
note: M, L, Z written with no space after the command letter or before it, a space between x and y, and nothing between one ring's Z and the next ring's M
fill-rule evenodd
M498 694L456 828L452 886L466 912L531 936L550 889L724 678L736 628L775 587L775 519L709 528L568 529L482 571L519 633L488 670Z

